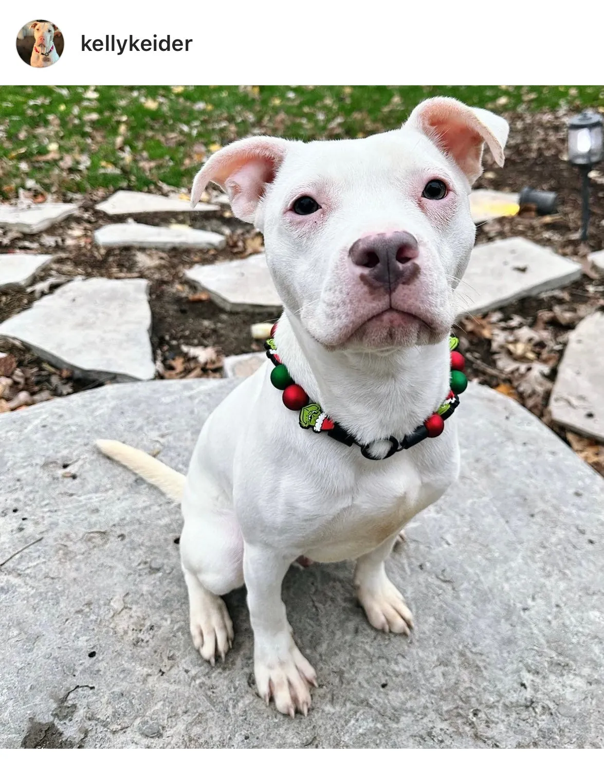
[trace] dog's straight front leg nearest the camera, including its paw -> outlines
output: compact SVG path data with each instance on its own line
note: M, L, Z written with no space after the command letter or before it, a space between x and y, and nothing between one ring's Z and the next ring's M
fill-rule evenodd
M268 704L272 697L283 714L304 715L310 707L309 684L316 673L302 656L281 597L285 572L295 556L282 556L266 546L244 546L244 578L253 629L256 688Z

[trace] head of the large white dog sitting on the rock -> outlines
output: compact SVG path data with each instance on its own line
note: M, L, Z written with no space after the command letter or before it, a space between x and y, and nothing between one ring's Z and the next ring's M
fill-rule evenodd
M507 122L451 98L359 140L248 137L197 174L263 231L285 307L326 348L379 350L442 340L472 250L468 194L483 146L503 164Z

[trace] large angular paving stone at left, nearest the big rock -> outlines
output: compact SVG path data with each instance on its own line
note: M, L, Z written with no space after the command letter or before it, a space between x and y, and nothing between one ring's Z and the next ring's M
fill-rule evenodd
M68 282L0 324L52 366L88 379L153 379L146 279Z

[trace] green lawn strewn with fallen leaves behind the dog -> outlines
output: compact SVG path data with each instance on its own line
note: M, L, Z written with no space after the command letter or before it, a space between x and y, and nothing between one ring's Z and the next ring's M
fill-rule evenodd
M426 96L496 112L604 102L602 87L2 87L0 196L27 178L58 196L187 188L237 137L362 137L397 128Z

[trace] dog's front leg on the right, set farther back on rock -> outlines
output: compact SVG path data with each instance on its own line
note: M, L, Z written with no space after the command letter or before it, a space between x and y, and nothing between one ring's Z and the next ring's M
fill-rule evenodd
M409 635L409 628L413 627L413 616L386 575L384 566L397 537L398 533L392 535L376 549L357 559L354 587L360 605L365 609L367 619L373 627L384 632Z

